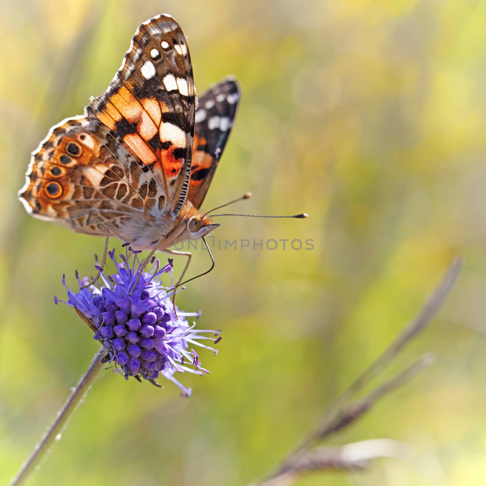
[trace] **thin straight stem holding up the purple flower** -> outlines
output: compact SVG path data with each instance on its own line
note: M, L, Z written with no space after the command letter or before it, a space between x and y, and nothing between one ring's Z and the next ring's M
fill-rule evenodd
M94 357L87 372L81 377L78 386L74 389L64 407L57 414L56 419L51 427L44 434L40 442L35 446L30 457L24 462L17 476L12 480L10 486L19 486L26 483L30 473L40 464L43 457L50 451L52 444L59 433L62 432L67 420L79 405L81 400L87 394L89 387L93 384L98 373L103 369L104 364L101 362L106 354L106 349L101 348Z

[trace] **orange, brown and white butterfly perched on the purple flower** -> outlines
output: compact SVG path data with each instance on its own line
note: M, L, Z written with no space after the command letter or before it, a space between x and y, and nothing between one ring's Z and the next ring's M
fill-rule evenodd
M153 17L106 92L40 142L19 199L35 218L139 250L208 236L219 224L199 208L239 101L232 77L198 101L186 37L173 17Z

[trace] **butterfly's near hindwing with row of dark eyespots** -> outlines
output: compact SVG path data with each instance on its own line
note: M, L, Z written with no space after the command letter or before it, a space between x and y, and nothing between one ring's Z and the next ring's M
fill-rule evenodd
M143 216L147 178L139 165L103 123L69 118L52 127L32 154L19 199L35 218L80 233L120 231L130 218Z

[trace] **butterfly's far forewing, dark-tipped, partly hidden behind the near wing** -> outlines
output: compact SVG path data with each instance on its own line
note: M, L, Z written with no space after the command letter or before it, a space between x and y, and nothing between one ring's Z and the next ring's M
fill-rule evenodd
M198 100L188 200L200 208L236 117L240 89L232 77L210 87Z

